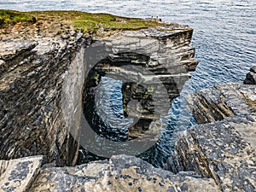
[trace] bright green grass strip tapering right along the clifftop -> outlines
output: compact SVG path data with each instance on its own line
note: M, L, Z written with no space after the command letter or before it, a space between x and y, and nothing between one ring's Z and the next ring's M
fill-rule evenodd
M160 22L154 20L143 20L139 18L127 18L110 14L90 14L81 11L39 11L31 12L38 20L40 18L55 18L61 22L70 21L77 29L85 32L97 32L113 30L137 30L148 26L161 26Z

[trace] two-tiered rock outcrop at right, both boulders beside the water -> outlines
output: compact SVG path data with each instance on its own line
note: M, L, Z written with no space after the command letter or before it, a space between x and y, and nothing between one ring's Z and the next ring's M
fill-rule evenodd
M222 191L255 191L255 84L197 91L194 115L201 125L180 134L166 169L212 177Z

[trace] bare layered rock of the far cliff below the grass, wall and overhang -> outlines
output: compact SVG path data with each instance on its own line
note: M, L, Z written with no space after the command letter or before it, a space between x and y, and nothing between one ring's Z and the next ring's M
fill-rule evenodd
M161 82L167 87L166 102L170 102L169 96L178 95L190 76L189 71L197 64L195 49L189 44L191 36L189 26L167 25L117 32L97 40L72 31L68 37L1 41L0 159L44 154L44 163L74 165L84 108L82 91L90 69L106 58L114 63L125 60L129 65L143 65L152 74L143 74L143 70L133 74L121 67L114 70L126 80L133 79L132 82L163 79ZM130 54L134 52L147 55L148 59L144 62ZM113 72L114 67L110 70L104 67L101 68L104 73ZM124 101L131 100L128 95L125 94ZM152 119L149 116L145 119Z

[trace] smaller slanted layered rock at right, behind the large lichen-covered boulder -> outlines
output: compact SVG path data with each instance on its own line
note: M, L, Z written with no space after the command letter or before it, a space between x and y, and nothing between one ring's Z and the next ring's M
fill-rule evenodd
M216 84L212 90L198 90L194 97L194 116L199 124L233 115L255 113L255 85Z

